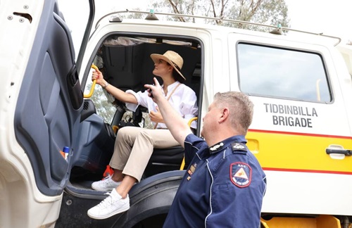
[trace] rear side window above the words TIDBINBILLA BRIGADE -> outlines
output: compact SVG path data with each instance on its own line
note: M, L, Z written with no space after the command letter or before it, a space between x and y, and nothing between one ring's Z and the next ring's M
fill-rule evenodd
M332 101L318 53L238 44L239 87L246 94L300 101Z

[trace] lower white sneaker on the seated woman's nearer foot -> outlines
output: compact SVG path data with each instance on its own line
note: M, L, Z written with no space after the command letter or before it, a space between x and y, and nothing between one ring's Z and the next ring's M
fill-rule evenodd
M130 198L128 195L126 198L122 198L115 189L108 195L101 203L88 210L87 214L89 217L103 220L130 209Z

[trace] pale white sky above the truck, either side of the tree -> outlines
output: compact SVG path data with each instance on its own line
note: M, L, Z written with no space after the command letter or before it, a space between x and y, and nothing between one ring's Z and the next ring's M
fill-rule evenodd
M70 27L75 46L80 44L89 12L87 0L57 0ZM351 0L284 0L292 29L340 37L352 41ZM96 20L111 11L140 8L149 11L150 0L96 0ZM83 26L82 26L83 25ZM95 23L94 23L95 26ZM76 48L76 47L75 47Z

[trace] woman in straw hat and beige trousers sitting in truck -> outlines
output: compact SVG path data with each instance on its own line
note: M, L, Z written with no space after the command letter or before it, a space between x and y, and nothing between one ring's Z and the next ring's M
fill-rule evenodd
M166 51L163 55L151 54L151 59L155 66L153 75L162 78L164 95L172 107L186 122L198 115L196 94L182 83L186 80L180 72L183 58L175 51ZM148 108L149 116L154 124L154 129L141 127L119 129L113 157L109 164L113 168L113 175L92 183L92 189L112 190L106 199L88 210L89 217L101 220L130 208L128 192L135 182L141 180L153 148L169 148L179 144L164 124L156 103L148 96L148 91L137 93L132 90L122 91L108 84L99 70L92 73L92 80L96 80L96 84L101 85L115 99L125 102L130 110L134 111L138 106ZM191 127L196 128L196 123L192 123Z

